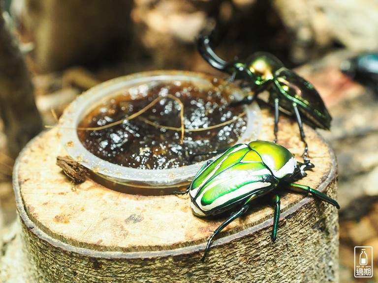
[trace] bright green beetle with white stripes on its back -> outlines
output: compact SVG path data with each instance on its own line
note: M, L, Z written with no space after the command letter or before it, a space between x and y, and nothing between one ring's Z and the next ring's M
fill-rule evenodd
M197 172L185 192L191 199L194 215L206 217L225 211L236 211L228 217L208 240L204 260L213 238L233 220L243 215L252 205L252 200L273 195L275 206L272 240L276 240L280 217L280 198L277 192L289 189L312 194L340 208L336 200L310 188L295 184L307 175L305 170L313 168L310 162L300 163L294 155L274 142L254 141L236 144L214 161L207 161Z

